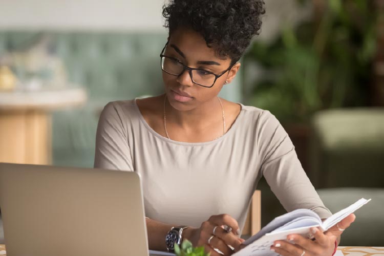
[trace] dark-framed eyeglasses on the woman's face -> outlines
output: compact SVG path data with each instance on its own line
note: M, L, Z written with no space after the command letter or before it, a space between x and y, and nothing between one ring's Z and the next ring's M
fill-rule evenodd
M188 70L190 79L194 83L202 87L211 88L212 86L214 86L216 80L222 75L224 75L234 65L232 64L228 69L223 71L220 75L216 75L212 72L202 70L202 69L189 68L188 66L185 66L183 63L177 60L176 58L163 55L163 52L167 45L168 45L168 42L165 44L160 54L161 69L164 72L168 73L169 75L173 75L173 76L180 76L181 74L184 73L185 70Z

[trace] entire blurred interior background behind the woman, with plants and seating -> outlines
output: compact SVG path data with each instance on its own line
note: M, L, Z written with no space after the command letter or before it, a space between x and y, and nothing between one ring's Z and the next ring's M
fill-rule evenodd
M265 2L221 96L281 121L332 212L372 198L341 245L384 246L384 1ZM162 5L1 1L0 162L92 167L103 106L163 92ZM259 189L265 225L284 209Z

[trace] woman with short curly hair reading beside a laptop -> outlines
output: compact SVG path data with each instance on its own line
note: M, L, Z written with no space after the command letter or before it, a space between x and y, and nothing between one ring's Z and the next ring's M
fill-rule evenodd
M188 239L211 255L220 255L214 248L224 255L238 251L262 176L288 211L331 215L279 121L218 97L237 75L263 14L261 0L171 1L163 7L169 28L160 55L165 94L110 102L101 114L95 167L141 175L150 249L172 251L174 242ZM292 235L294 244L276 241L271 249L330 256L353 220L325 234L314 230L315 241Z

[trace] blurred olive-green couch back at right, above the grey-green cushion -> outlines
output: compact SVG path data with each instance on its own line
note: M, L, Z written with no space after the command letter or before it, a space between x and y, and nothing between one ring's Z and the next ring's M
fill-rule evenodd
M321 111L312 131L309 176L317 188L384 188L384 109Z

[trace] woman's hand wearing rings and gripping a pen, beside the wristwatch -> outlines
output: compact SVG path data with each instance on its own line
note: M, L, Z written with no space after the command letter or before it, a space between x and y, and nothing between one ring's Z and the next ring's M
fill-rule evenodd
M232 228L227 232L223 226ZM240 249L243 239L237 237L240 235L239 224L235 219L227 214L211 216L204 221L200 228L187 228L183 232L184 239L188 239L193 246L204 246L206 252L211 256L221 256L214 249L220 250L224 255L231 255ZM233 247L232 250L229 246Z

